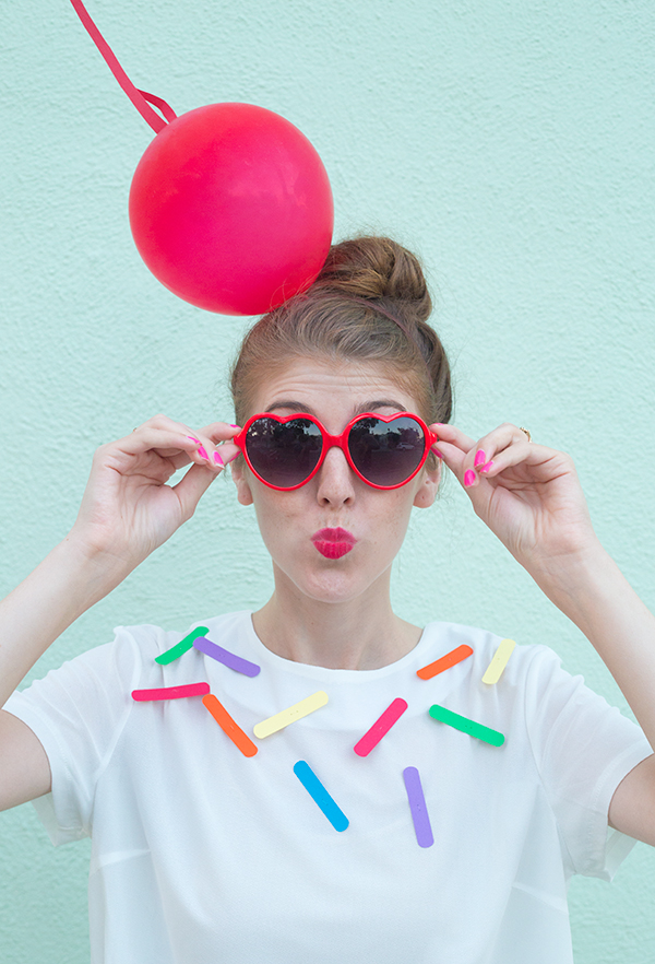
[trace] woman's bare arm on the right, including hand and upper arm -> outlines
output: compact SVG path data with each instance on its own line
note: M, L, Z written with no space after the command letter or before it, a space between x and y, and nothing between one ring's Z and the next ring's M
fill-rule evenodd
M655 616L598 541L572 460L514 425L477 443L433 427L476 514L592 643L655 748ZM655 845L655 756L620 784L610 822Z

